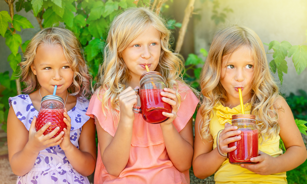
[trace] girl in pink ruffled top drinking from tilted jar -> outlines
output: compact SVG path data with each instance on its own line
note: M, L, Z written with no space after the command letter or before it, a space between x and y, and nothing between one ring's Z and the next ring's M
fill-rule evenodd
M95 118L98 133L95 184L190 183L198 98L182 80L183 62L169 50L169 36L161 18L145 8L126 10L111 23L100 87L86 113ZM140 106L134 88L145 65L167 85L161 96L172 112L160 124L133 112Z

